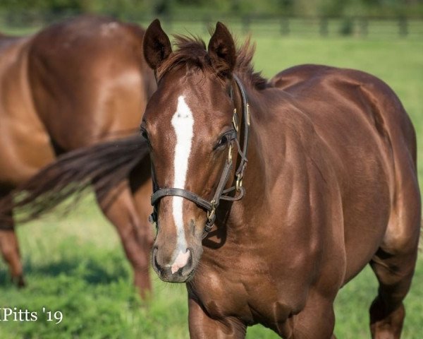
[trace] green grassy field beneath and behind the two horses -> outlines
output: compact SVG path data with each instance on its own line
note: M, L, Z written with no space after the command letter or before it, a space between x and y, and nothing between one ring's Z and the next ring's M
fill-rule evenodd
M396 90L423 136L423 42L417 40L355 40L254 37L255 66L265 76L295 64L317 63L373 73ZM422 159L423 138L419 138ZM423 179L423 162L419 163ZM143 304L131 285L114 229L92 197L67 218L54 216L18 229L27 288L17 290L0 266L0 307L37 311L37 321L2 321L0 338L188 338L186 292L183 285L162 283L153 274L154 296ZM341 290L336 300L338 338L369 338L367 310L376 295L376 279L366 269ZM423 322L423 260L419 259L410 295L403 338L421 338ZM46 311L61 311L63 320L47 321ZM247 338L277 338L262 326Z

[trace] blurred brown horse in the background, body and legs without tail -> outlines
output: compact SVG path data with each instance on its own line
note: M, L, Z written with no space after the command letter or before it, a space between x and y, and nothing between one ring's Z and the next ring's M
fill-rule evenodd
M143 35L137 25L82 16L30 37L0 37L0 196L62 153L137 131L156 86ZM136 182L121 182L113 203L99 203L142 291L152 244L148 159L138 167ZM0 229L1 254L23 285L13 219Z

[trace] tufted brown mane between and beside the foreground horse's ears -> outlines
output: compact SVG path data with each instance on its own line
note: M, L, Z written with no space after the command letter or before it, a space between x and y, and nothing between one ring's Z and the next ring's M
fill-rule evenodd
M157 69L158 78L161 78L164 73L182 64L185 64L189 68L218 73L219 70L213 69L210 62L204 40L193 35L173 35L173 38L173 44L176 50ZM237 49L234 71L244 81L249 81L253 88L260 90L266 87L267 79L262 77L261 72L254 71L252 66L254 53L255 44L251 44L250 37L248 37L244 44Z

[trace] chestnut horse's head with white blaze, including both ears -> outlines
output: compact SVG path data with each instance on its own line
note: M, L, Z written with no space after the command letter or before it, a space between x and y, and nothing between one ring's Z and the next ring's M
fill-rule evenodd
M150 145L157 237L152 265L162 280L189 280L202 255L204 227L214 222L216 190L233 175L232 72L235 44L217 23L209 42L177 37L179 49L155 20L144 40L158 89L147 105L142 133ZM225 177L225 178L223 178Z

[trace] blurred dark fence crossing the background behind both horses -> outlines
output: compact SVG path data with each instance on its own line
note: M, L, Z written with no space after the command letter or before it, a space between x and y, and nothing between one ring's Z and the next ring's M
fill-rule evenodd
M78 13L0 13L0 30L3 32L31 32L63 20ZM112 15L113 16L113 15ZM130 20L148 25L153 19L145 13L130 13L119 16L123 20ZM423 38L423 18L377 18L377 17L289 17L289 16L210 16L196 18L181 18L180 16L164 16L161 21L166 28L173 32L192 32L204 34L221 20L230 25L237 34L253 33L260 35L302 36L302 37L336 37L350 36L362 38Z

